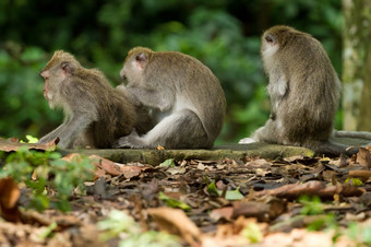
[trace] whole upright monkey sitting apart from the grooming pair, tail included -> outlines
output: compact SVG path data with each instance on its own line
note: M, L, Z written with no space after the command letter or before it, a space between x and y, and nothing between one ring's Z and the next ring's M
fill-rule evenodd
M321 43L289 26L274 26L262 36L261 55L270 78L271 118L251 138L312 149L316 153L354 154L358 149L331 142L340 81Z

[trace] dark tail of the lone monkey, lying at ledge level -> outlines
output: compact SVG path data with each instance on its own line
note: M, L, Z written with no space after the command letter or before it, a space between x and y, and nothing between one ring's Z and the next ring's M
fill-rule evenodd
M343 145L336 142L332 142L330 140L323 142L311 143L310 146L316 154L320 155L327 155L331 157L340 156L342 154L346 154L351 156L357 154L359 149L358 148L349 148L347 145Z

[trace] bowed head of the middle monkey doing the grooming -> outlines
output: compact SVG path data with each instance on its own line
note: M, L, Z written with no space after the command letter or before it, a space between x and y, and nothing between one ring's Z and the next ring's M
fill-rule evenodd
M130 84L140 83L147 64L152 61L155 52L148 48L135 47L128 52L120 78Z

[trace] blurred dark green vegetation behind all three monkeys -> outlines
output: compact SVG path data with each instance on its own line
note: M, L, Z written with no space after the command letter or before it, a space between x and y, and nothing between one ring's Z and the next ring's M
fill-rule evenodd
M212 69L228 102L217 143L236 142L268 118L260 36L276 24L312 34L342 73L338 0L1 0L0 137L40 137L62 121L38 75L53 50L72 52L117 85L128 50L147 46L189 54Z

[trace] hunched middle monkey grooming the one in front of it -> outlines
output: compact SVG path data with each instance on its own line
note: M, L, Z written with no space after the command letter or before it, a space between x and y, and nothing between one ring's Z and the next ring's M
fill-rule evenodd
M219 134L226 98L218 79L198 59L178 51L135 47L120 77L152 111L155 127L118 140L116 148L211 149Z

